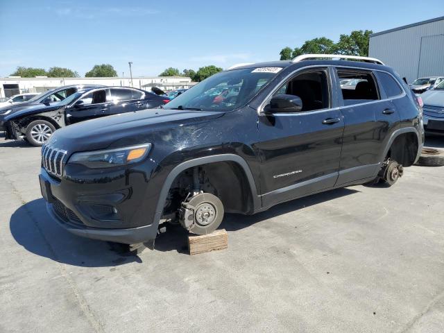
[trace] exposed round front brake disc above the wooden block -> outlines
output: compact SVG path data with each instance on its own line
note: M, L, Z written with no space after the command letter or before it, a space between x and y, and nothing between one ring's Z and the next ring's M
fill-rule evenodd
M194 224L189 230L193 234L211 234L219 228L223 220L223 203L213 194L201 193L189 200L189 205L196 207L194 212ZM204 213L208 214L205 221ZM208 223L210 221L210 223Z

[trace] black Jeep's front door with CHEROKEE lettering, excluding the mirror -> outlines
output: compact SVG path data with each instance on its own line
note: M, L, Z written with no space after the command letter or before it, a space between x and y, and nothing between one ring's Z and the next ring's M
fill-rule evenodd
M273 96L299 96L302 110L259 114L259 143L255 148L261 157L264 207L334 186L344 123L331 87L327 67L300 71Z

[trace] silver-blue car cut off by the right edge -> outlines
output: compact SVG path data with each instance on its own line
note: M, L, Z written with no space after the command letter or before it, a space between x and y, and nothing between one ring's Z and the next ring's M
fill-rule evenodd
M444 134L444 81L421 94L424 103L424 128L429 133Z

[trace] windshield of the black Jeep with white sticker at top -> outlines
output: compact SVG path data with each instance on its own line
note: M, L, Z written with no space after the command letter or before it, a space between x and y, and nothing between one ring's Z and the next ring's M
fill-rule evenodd
M230 111L245 105L281 67L234 69L215 74L183 92L165 109Z

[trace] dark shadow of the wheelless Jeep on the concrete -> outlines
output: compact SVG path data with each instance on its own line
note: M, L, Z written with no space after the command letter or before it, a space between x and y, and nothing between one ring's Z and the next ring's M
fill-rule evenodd
M235 231L250 225L309 207L328 200L356 193L351 188L334 189L321 194L314 194L298 200L277 205L266 212L245 216L227 214L221 228ZM123 244L86 239L70 234L46 213L42 198L33 200L19 207L10 219L10 231L18 244L26 250L56 262L74 266L103 267L118 266L130 262L142 262L137 255L128 253ZM180 225L167 225L167 232L160 234L155 241L155 250L187 253L188 232ZM146 249L145 251L150 251Z

